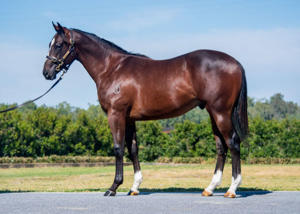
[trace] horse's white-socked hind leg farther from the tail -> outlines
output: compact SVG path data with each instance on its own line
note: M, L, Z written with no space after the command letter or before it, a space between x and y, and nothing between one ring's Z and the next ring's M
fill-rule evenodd
M203 193L201 194L202 196L212 196L214 189L221 185L222 173L223 173L227 150L228 150L225 140L222 137L221 133L219 132L215 124L214 118L210 113L209 113L209 117L211 121L213 136L215 139L215 145L217 150L217 161L216 161L211 183L203 191Z

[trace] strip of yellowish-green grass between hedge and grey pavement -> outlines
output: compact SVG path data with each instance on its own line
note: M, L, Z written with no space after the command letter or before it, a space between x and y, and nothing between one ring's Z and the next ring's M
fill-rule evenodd
M300 191L300 165L242 165L242 185L237 191ZM141 165L140 192L201 192L210 183L214 165ZM0 192L105 192L113 182L115 169L20 168L0 169ZM133 168L124 167L124 182L118 192L128 192ZM231 165L225 165L222 184L231 183Z

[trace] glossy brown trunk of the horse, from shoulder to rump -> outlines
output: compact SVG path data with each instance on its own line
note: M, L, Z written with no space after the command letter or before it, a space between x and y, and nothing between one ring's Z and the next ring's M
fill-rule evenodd
M241 84L238 71L233 57L212 50L166 60L131 56L115 73L119 76L115 84L123 92L117 101L130 108L128 117L133 120L164 119L196 106L224 105L226 99L237 97Z

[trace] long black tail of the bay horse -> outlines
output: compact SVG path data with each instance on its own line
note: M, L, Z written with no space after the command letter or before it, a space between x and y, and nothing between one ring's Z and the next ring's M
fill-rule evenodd
M245 71L242 65L236 61L241 71L241 88L239 96L236 99L232 109L232 121L237 134L241 141L243 141L249 134L248 127L248 113L247 113L247 83L245 77Z

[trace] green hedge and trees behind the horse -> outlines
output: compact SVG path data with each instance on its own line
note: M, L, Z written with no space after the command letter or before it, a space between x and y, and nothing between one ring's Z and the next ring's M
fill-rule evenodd
M7 107L0 104L0 110ZM241 144L242 160L300 158L300 108L296 103L285 102L281 94L269 100L248 98L248 116L250 134ZM172 128L170 134L163 132L164 127ZM136 128L140 161L216 156L205 110L195 108L177 118L137 122ZM56 107L32 103L0 114L0 157L50 155L114 156L112 136L101 107L90 105L84 110L66 102Z

